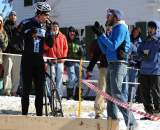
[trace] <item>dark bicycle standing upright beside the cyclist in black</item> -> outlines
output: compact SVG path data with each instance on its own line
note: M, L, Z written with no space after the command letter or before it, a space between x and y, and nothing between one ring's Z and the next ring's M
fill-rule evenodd
M49 61L46 63L51 68L52 63ZM47 72L45 72L44 100L46 116L51 115L55 117L63 117L61 98L57 91L55 82L52 80L52 75L49 75Z

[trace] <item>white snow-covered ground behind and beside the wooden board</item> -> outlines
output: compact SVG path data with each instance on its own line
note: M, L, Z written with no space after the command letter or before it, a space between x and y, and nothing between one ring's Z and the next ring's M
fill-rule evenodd
M78 102L74 100L65 100L63 99L62 102L64 116L68 118L76 118L77 114L77 106ZM94 118L94 102L93 101L82 101L81 104L81 117L82 118ZM143 110L142 104L133 104L135 109L140 111ZM35 108L34 108L34 97L30 97L30 108L29 113L34 115ZM20 115L21 114L21 102L19 97L7 97L7 96L0 96L0 114L10 114L10 115ZM140 120L141 116L134 113L136 120L138 122L138 129L137 130L160 130L160 121L142 121ZM107 113L104 111L104 119L106 119ZM120 130L126 130L126 126L124 124L123 117L121 113L119 113L120 117Z

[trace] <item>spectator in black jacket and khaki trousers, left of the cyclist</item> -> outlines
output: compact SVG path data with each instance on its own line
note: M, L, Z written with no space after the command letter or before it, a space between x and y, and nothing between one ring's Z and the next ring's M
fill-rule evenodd
M8 35L8 46L5 53L19 54L22 51L16 36L16 12L9 13L9 19L5 21L4 29ZM19 84L20 62L19 56L4 55L4 95L15 95Z

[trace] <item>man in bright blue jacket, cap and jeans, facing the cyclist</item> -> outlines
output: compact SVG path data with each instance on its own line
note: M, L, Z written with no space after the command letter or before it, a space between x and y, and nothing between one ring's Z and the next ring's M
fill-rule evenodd
M123 13L119 10L107 10L107 23L113 27L109 38L103 33L98 22L95 22L93 30L98 35L98 45L109 63L107 93L121 102L127 103L122 93L122 82L127 74L128 50L131 43L128 26L122 21L122 16ZM127 109L116 106L110 101L107 104L108 117L112 120L118 120L117 107L122 112L126 126L129 125L129 130L136 129L136 121L132 112L129 117Z

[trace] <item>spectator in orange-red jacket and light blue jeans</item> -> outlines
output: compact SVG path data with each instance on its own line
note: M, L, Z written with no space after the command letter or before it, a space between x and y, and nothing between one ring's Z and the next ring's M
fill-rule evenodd
M53 22L52 23L52 31L53 31L53 47L45 48L45 55L47 57L56 58L59 60L51 60L51 73L53 81L56 80L56 87L58 89L58 93L60 97L63 96L62 91L62 82L63 82L63 72L64 72L64 60L63 58L67 57L68 53L68 44L65 35L63 35L59 30L59 23ZM60 60L61 59L61 60ZM48 68L48 72L50 72L50 68Z

